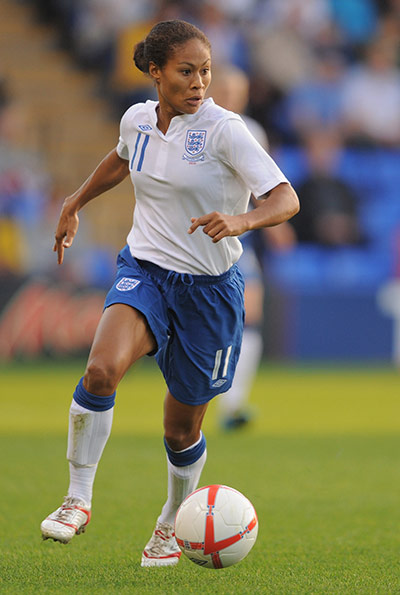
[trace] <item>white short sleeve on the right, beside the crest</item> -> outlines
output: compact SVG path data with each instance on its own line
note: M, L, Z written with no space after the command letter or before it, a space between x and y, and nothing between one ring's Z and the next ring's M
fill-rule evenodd
M279 184L288 183L239 116L222 123L215 142L218 157L243 180L256 198Z

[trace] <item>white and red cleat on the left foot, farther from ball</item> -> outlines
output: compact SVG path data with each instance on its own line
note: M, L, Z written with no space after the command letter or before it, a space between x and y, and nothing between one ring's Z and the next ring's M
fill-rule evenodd
M42 537L69 543L74 535L84 533L90 516L90 508L85 502L67 496L60 508L52 512L40 525Z

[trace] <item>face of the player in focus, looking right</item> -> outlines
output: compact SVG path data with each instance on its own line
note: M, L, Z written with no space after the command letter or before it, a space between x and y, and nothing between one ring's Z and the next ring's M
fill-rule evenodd
M161 111L170 118L195 114L211 81L210 66L210 50L200 39L178 46L162 69L151 64Z

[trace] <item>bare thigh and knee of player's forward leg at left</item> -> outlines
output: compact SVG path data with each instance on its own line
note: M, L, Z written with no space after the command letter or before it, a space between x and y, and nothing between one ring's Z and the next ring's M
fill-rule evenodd
M126 304L113 304L100 319L87 370L92 371L92 376L95 370L97 375L104 370L114 382L119 382L136 360L155 348L156 341L144 315Z

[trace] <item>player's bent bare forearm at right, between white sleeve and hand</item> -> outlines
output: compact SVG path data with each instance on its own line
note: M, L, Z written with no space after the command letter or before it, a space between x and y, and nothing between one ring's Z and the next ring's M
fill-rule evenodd
M258 206L245 215L249 230L279 225L300 210L299 199L290 184L279 184L260 199Z

